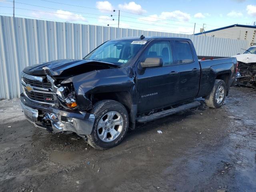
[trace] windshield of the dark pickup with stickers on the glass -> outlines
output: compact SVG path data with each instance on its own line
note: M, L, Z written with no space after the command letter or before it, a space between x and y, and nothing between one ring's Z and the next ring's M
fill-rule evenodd
M135 41L108 41L94 51L90 52L84 59L97 60L123 66L129 62L146 43L138 44Z

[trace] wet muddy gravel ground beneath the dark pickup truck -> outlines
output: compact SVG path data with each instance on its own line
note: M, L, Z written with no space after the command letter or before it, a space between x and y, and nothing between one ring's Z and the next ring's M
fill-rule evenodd
M18 99L2 100L0 191L255 192L256 90L231 88L218 109L201 102L99 151L72 135L39 132Z

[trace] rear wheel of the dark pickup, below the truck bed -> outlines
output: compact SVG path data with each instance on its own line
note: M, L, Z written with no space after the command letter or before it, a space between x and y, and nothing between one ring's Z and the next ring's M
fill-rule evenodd
M220 88L223 88L223 90L220 91ZM223 80L216 79L212 91L204 97L206 105L211 108L221 107L226 98L226 91L226 83Z

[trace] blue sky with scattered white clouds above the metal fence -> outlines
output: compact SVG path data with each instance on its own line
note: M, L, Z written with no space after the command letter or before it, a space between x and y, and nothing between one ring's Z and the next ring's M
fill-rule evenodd
M256 0L15 0L15 16L193 34L232 24L256 23ZM115 10L115 12L113 11ZM12 0L0 0L0 15L12 16Z

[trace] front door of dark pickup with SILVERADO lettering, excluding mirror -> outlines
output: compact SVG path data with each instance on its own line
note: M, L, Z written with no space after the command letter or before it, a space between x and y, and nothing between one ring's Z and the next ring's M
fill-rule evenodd
M163 66L141 68L146 58L162 58ZM167 106L177 100L179 73L173 66L173 53L169 40L153 40L138 60L136 85L138 90L138 112L146 112Z

